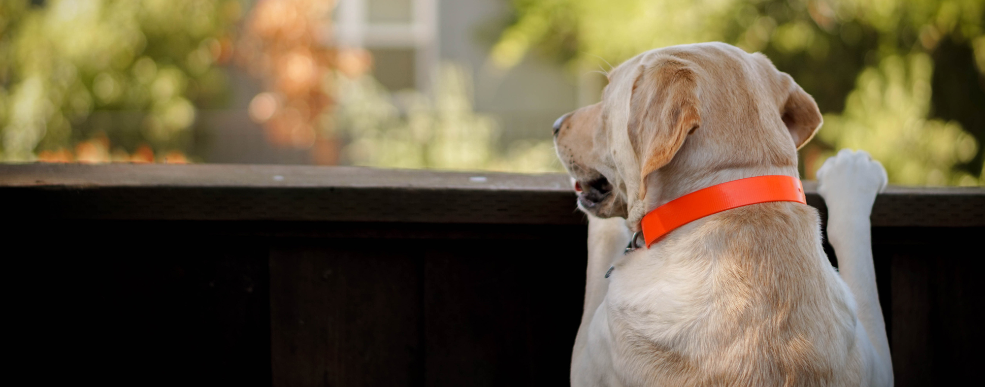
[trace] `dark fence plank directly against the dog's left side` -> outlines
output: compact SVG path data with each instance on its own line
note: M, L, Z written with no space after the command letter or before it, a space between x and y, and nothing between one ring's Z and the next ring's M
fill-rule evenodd
M431 245L427 385L568 385L584 239L581 230L553 239Z

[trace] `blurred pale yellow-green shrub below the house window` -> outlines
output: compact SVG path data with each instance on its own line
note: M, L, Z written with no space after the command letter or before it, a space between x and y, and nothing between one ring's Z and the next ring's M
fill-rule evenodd
M492 117L476 113L472 80L460 67L443 64L433 97L415 91L387 92L367 75L340 74L335 133L349 144L343 161L356 165L404 168L490 169L516 172L559 171L549 141L520 141L495 152Z

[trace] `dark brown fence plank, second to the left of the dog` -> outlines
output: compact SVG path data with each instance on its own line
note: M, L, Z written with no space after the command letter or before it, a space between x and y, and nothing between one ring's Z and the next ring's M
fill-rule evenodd
M275 246L274 385L422 385L421 267L420 253L393 240Z

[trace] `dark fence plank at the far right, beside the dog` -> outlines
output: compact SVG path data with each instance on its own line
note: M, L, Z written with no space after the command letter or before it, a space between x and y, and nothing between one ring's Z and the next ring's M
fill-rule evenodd
M891 259L889 278L878 281L891 283L886 320L897 386L959 385L978 377L973 354L985 345L979 323L985 263L975 237L983 231L926 230L926 239L877 244L880 259Z

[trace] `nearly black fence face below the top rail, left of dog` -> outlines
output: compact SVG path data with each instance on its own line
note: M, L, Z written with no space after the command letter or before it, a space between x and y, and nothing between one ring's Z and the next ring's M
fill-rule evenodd
M41 226L13 233L32 258L7 266L11 351L23 367L71 358L52 381L567 383L584 226Z

